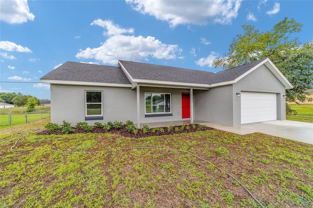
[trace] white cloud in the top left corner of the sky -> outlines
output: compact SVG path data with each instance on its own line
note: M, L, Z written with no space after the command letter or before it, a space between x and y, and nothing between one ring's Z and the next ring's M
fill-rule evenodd
M27 0L0 0L0 13L1 21L10 24L33 21L35 18L29 11Z

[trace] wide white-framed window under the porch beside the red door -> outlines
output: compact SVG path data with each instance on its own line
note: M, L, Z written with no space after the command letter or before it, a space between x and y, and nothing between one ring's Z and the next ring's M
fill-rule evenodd
M145 93L146 114L171 113L171 94Z

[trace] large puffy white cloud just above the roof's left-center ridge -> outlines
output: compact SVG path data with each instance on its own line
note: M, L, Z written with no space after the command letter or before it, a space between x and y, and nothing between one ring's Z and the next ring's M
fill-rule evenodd
M124 29L112 21L97 20L93 24L102 26L107 29L105 35L110 35L108 39L101 43L100 47L80 49L76 58L95 59L103 63L116 64L117 60L124 59L129 61L140 61L154 57L156 59L176 59L177 53L181 49L176 44L165 44L155 37L147 36L126 36L121 33L134 32L133 29Z

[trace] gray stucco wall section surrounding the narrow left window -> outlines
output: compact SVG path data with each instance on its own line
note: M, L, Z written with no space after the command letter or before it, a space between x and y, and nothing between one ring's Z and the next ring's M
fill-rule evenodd
M136 119L136 92L130 88L51 84L50 90L52 123L65 120L74 126L84 122L86 90L103 91L103 120L86 121L89 125Z

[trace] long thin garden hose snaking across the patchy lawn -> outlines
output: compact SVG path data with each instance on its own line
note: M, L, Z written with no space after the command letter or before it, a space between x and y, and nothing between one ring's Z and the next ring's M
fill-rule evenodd
M30 130L39 130L39 129L30 129ZM264 208L264 206L253 196L253 194L239 181L237 180L234 176L232 176L230 173L226 172L225 170L219 168L218 166L215 166L212 162L205 160L191 152L185 151L185 150L181 150L181 149L171 149L171 148L159 148L159 147L126 147L126 148L119 148L119 149L110 149L110 150L103 150L103 151L86 151L86 152L79 152L79 151L59 151L59 150L54 150L54 149L47 149L47 148L42 148L42 147L32 147L29 149L13 149L14 146L16 146L18 144L18 142L24 138L26 135L28 135L29 133L26 132L21 132L21 131L14 131L14 132L10 132L10 133L20 133L20 134L24 134L22 137L20 137L13 146L11 146L11 150L13 151L29 151L32 149L42 149L42 150L48 150L48 151L52 151L52 152L58 152L58 153L69 153L69 154L73 154L73 153L81 153L81 154L90 154L90 153L104 153L104 152L113 152L113 151L120 151L120 150L132 150L132 149L155 149L155 150L170 150L170 151L179 151L179 152L183 152L183 153L187 153L190 154L193 157L196 157L204 162L207 162L211 165L213 165L214 167L216 167L217 169L221 170L222 172L226 173L227 175L229 175L231 178L233 178L236 182L238 182L243 188L245 188L246 192L248 192L248 194L256 201L256 203L258 203L262 208Z

